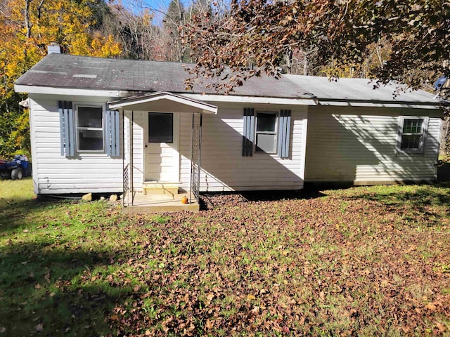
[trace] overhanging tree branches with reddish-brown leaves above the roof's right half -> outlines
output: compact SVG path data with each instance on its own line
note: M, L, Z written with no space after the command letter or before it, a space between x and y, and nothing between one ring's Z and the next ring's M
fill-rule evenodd
M424 74L430 80L450 74L449 39L446 0L233 0L229 15L200 13L188 31L198 61L193 73L220 76L229 67L234 76L216 84L226 91L262 72L279 76L291 51L314 51L309 66L331 65L328 75L338 76L363 65L370 46L380 51L386 43L392 52L368 75L418 88Z

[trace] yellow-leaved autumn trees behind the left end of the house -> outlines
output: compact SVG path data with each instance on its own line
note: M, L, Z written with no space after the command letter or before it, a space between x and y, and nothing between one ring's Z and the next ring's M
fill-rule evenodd
M27 112L18 105L25 95L15 93L13 84L46 55L48 44L57 42L75 55L120 55L120 44L96 30L104 10L100 0L1 0L0 154L29 150Z

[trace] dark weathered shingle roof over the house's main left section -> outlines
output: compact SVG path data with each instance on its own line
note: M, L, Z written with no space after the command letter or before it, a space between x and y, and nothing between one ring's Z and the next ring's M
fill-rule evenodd
M215 93L205 84L197 84L193 91L186 90L184 79L191 64L178 62L122 60L52 53L46 55L15 84L91 90L117 90L132 92ZM236 88L232 95L259 97L302 98L304 90L293 86L287 79L272 77L250 79L245 86ZM310 98L309 95L305 98Z

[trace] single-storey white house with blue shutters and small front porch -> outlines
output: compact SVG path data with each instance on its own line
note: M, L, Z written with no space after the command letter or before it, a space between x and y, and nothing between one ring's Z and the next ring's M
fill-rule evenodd
M436 178L441 110L429 93L284 75L222 95L188 91L186 77L181 63L47 55L15 82L30 98L34 192L195 204L205 191Z

